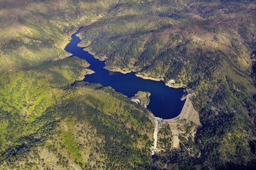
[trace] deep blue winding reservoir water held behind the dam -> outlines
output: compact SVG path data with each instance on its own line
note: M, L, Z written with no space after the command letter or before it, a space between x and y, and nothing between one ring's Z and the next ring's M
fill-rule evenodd
M184 94L183 88L170 88L165 86L165 83L162 81L145 80L135 76L135 72L128 74L109 72L103 68L105 67L105 62L95 59L89 52L77 46L81 40L76 34L80 31L81 28L72 35L72 39L65 47L65 50L73 54L72 56L85 59L91 64L89 68L95 71L95 73L86 75L83 81L110 86L128 97L134 96L139 90L148 91L151 95L147 108L155 116L163 119L171 119L180 114L185 103L185 100L180 100Z

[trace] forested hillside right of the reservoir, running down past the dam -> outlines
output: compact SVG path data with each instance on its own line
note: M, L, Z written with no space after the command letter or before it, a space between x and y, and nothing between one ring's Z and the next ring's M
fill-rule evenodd
M255 167L255 7L255 1L120 1L83 28L80 46L109 70L140 72L192 93L201 155L181 151L186 158L175 162L169 153L163 161L169 167Z

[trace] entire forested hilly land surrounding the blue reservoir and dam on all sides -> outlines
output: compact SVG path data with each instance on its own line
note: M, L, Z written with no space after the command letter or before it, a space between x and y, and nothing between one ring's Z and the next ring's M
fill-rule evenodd
M0 0L0 169L255 169L255 9L250 0ZM166 151L151 158L148 110L78 81L89 64L64 47L80 26L80 46L109 70L186 86L202 126L182 120L172 150L165 124Z

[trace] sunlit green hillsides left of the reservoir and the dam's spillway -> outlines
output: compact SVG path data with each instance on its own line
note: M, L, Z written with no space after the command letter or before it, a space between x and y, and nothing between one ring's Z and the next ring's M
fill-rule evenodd
M150 169L148 111L63 49L110 5L0 1L0 169Z

